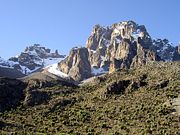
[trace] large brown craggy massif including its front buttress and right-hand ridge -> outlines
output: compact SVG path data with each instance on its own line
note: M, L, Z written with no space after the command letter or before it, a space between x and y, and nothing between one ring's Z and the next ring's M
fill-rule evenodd
M58 66L62 72L81 81L90 76L112 73L117 69L179 59L178 48L167 39L152 39L144 25L124 21L108 27L95 25L86 42L86 48L72 49ZM74 74L71 70L75 71Z

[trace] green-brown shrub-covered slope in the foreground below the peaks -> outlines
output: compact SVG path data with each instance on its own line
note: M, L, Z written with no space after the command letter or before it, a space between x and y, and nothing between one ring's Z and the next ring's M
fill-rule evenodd
M180 116L171 102L180 94L179 67L152 62L79 87L33 87L16 109L0 113L1 134L178 135ZM39 100L33 91L48 98Z

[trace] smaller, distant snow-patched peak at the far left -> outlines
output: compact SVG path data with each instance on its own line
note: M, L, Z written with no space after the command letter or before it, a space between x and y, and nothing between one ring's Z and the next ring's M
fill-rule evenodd
M9 60L0 59L0 67L19 71L24 75L31 74L42 68L57 63L64 59L65 55L60 55L58 51L51 52L50 49L39 44L26 47L26 49Z

